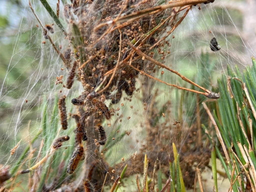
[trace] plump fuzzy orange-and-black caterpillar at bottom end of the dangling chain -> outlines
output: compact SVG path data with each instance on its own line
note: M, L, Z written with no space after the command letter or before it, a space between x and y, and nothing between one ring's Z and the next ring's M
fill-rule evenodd
M82 156L83 156L83 145L79 145L75 148L72 156L69 159L69 164L67 167L68 174L72 174L74 172Z

